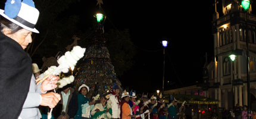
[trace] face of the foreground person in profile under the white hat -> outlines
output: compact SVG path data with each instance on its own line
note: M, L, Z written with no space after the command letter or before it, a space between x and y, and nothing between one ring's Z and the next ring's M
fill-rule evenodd
M18 42L23 49L27 48L27 45L32 42L32 32L26 29L21 29L15 33L11 33L10 29L4 28L4 35Z

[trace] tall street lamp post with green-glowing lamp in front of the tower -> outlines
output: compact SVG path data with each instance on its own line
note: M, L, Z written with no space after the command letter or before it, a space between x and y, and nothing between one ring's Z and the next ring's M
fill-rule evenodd
M243 11L245 11L245 29L246 29L246 64L247 64L247 95L248 95L248 114L251 111L251 90L250 90L250 78L249 78L249 39L248 39L248 29L247 29L247 11L249 10L250 1L249 0L242 0L241 5ZM249 115L248 115L249 118Z

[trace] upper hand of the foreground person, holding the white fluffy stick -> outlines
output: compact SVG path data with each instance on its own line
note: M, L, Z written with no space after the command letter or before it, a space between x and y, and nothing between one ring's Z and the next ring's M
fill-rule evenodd
M52 82L51 82L52 79ZM45 79L42 83L41 83L41 92L46 92L48 90L52 90L55 89L57 87L57 82L58 79L60 79L60 77L58 76L49 76L47 79ZM52 83L54 86L52 86Z

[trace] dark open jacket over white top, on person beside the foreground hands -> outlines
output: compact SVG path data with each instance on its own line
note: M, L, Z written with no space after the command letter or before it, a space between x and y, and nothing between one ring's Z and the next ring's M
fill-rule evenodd
M60 93L61 95L61 93ZM70 89L70 95L68 96L67 101L67 108L65 110L65 113L62 113L63 109L63 98L61 95L61 101L57 104L57 106L54 108L54 117L60 117L60 115L64 115L68 118L74 118L74 115L76 115L77 109L78 109L78 102L77 102L77 93L74 91L74 89Z

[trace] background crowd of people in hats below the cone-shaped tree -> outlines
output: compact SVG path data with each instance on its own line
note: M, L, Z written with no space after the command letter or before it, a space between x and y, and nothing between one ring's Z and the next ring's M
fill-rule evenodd
M38 65L33 64L34 76L38 76L40 70ZM191 107L181 105L177 108L177 100L170 97L170 103L164 102L163 95L143 95L139 98L136 92L120 92L118 85L113 90L87 97L90 88L82 84L79 89L73 89L71 84L59 89L61 99L52 112L52 118L58 119L101 119L101 118L122 118L122 119L166 119L166 118L192 118ZM93 91L93 90L92 90ZM78 92L78 93L76 93ZM121 95L120 95L121 94ZM42 118L48 118L48 107L40 107Z

